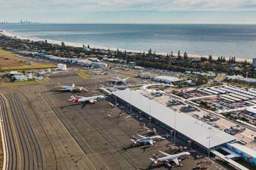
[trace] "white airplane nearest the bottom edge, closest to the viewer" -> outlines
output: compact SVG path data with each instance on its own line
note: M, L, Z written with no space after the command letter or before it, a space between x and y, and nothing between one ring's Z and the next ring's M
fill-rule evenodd
M159 164L160 162L164 162L166 163L169 167L171 167L171 164L169 164L169 162L173 161L175 162L175 164L179 165L179 157L183 157L183 156L188 156L190 155L189 152L181 152L179 154L174 154L174 155L170 155L166 152L163 151L159 151L162 154L164 154L164 157L158 158L155 154L153 155L152 158L150 158L150 160L152 162L154 162L155 164Z

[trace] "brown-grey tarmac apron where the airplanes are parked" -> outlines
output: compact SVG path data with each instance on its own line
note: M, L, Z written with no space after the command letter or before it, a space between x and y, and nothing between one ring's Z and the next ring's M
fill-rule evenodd
M173 144L170 137L152 147L134 145L130 141L132 135L151 135L149 129L153 127L157 134L165 135L166 132L155 125L145 128L147 123L129 116L124 107L112 107L110 98L96 104L79 105L68 101L72 92L58 90L58 83L75 83L89 89L75 95L99 95L96 88L109 85L113 75L116 73L85 79L75 72L66 72L51 75L44 83L0 87L7 169L168 168L164 164L152 164L149 157L159 150L174 154L177 151L170 146L187 146L184 142L177 139ZM141 82L134 77L129 80L129 83ZM187 147L192 151L193 148ZM192 154L181 162L183 166L173 169L191 169L202 160L195 160ZM204 166L225 169L216 162Z

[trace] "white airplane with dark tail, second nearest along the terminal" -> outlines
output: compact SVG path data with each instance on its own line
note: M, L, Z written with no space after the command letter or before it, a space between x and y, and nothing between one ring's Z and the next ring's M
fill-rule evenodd
M131 141L134 143L134 144L150 144L151 146L153 145L154 142L156 141L161 141L161 140L165 140L164 137L161 137L160 135L154 135L154 136L151 136L151 137L145 137L143 135L139 135L137 134L139 137L141 137L141 139L137 139L137 137L133 136Z

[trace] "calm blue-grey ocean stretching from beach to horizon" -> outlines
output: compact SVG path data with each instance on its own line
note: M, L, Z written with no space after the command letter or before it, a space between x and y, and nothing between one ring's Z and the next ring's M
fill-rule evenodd
M26 38L67 41L90 47L256 57L256 25L249 24L31 24L0 25Z

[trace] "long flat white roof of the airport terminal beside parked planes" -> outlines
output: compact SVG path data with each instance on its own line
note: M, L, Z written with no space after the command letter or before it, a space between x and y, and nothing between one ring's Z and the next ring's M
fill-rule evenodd
M150 112L152 117L174 128L174 110L154 100L149 101L150 99L141 95L141 92L141 90L130 90L127 88L112 93L129 104L131 102L137 109L147 114ZM149 105L151 105L151 109L149 109ZM211 128L210 147L209 128ZM236 140L232 135L183 113L176 114L176 130L207 149Z

